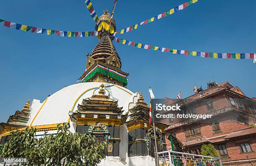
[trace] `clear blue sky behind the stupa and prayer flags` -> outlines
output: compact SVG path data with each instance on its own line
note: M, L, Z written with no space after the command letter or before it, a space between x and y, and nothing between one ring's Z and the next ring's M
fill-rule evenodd
M126 28L176 7L186 0L118 0L114 19ZM112 10L114 0L92 0L98 15ZM255 0L198 0L166 18L116 37L130 41L202 52L255 53ZM84 0L2 0L0 18L25 25L62 31L93 31L95 22ZM0 122L21 110L28 98L43 102L65 85L76 82L85 68L86 52L98 39L67 38L17 31L0 25ZM206 81L229 81L248 97L256 97L256 64L252 59L209 59L173 55L114 45L129 72L128 89L148 87L157 98L193 94Z

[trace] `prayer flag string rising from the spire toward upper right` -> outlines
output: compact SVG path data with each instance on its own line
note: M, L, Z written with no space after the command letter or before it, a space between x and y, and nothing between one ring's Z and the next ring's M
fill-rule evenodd
M187 2L185 2L185 3L183 3L183 4L179 5L179 6L177 6L177 7L175 7L175 8L172 8L172 9L170 9L170 10L164 12L164 13L161 13L161 14L159 14L159 15L156 15L156 16L152 17L152 18L149 18L148 20L144 20L144 21L142 21L141 23L135 24L135 25L137 25L136 28L131 28L131 27L133 27L133 26L130 26L130 27L128 27L128 28L121 29L120 31L116 31L116 32L114 33L114 36L115 36L116 34L118 34L118 33L126 33L126 32L129 32L129 31L133 31L133 30L137 29L138 25L142 26L142 25L145 25L145 24L147 24L147 23L154 22L155 20L158 20L158 19L160 19L160 18L164 18L164 17L166 17L166 16L168 16L168 15L172 15L173 13L177 13L178 11L183 10L184 8L187 8L189 5L191 5L191 4L193 4L193 3L196 3L196 2L197 2L197 0L189 0L189 1L187 1ZM135 26L135 25L134 25L134 26Z

